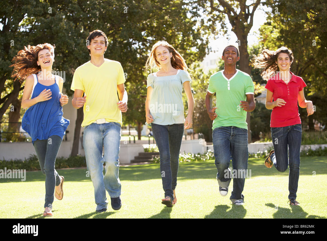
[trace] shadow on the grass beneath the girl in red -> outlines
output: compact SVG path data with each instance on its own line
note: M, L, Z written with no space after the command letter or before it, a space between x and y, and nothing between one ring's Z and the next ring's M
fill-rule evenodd
M272 215L273 218L326 218L317 215L308 215L301 206L291 206L291 209L277 207L273 203L266 203L267 207L273 208L276 212Z

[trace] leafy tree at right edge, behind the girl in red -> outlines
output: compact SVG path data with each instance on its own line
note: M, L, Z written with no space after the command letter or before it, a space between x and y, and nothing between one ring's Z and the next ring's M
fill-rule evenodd
M313 101L317 112L307 117L305 109L299 108L302 125L314 128L314 120L327 123L327 3L320 0L298 0L267 3L272 8L267 22L261 26L263 48L277 50L286 46L292 50L294 61L291 71L301 76L307 84L307 99Z

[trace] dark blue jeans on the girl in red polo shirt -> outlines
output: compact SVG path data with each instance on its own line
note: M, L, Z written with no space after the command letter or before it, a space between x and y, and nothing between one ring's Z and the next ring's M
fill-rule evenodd
M276 169L281 172L286 171L289 165L288 199L296 199L300 175L301 124L272 127L271 137L275 152L272 153L270 159L274 163ZM287 146L289 149L289 157L287 155Z

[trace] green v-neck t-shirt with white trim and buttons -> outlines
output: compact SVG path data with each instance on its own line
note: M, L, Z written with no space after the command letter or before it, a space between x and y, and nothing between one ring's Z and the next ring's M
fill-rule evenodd
M253 81L249 74L236 70L227 79L220 70L210 76L208 92L216 93L216 114L212 130L221 126L236 126L248 129L246 123L247 112L240 106L240 101L246 101L247 94L254 94Z

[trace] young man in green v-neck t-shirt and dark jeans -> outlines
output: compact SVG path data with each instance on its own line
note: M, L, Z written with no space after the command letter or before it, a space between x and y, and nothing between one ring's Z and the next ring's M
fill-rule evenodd
M250 75L236 70L240 59L238 49L227 46L222 55L225 68L210 76L205 104L212 125L216 179L219 193L226 196L232 176L233 191L230 197L233 204L243 205L242 194L248 168L248 127L246 111L253 111L254 85ZM216 107L211 108L212 97L216 93ZM232 159L233 174L229 169Z

